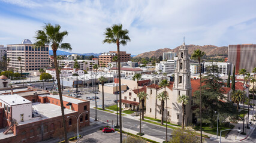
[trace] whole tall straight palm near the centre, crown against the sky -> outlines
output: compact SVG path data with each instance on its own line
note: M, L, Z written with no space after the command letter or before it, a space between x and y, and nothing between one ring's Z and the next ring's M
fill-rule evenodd
M121 63L120 63L120 44L127 45L129 39L127 29L122 29L122 24L113 24L112 27L107 27L106 32L104 32L105 39L103 43L115 43L118 48L118 76L119 76L119 122L120 122L120 142L122 142L122 92L121 92Z

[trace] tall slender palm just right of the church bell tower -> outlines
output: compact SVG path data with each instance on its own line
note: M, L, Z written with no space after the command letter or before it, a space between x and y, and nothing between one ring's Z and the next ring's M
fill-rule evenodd
M201 132L201 143L203 142L202 136L202 78L201 78L201 58L205 55L200 49L197 49L191 55L191 58L194 60L198 60L199 68L200 68L200 132Z

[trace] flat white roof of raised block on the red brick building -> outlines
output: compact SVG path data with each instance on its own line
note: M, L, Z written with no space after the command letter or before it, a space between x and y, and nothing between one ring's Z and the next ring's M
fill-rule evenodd
M13 95L0 95L0 100L6 102L9 105L19 105L19 104L28 104L32 103L29 100L26 100L20 95L13 94Z

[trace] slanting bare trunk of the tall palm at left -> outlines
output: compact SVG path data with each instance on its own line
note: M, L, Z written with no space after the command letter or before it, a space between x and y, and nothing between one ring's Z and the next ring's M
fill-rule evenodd
M53 49L55 49L55 48L53 48ZM65 114L64 114L64 105L63 105L63 100L62 100L62 92L61 92L61 84L60 84L61 81L59 80L59 69L58 69L58 64L57 64L56 51L53 51L53 61L55 64L56 79L58 82L59 101L61 102L61 115L62 115L62 122L63 122L63 127L64 127L64 139L65 139L65 143L68 143L66 120L65 120Z

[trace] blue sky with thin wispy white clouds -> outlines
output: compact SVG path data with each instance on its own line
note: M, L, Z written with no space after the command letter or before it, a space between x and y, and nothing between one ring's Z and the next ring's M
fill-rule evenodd
M113 24L129 30L121 51L137 55L159 48L186 45L228 46L255 43L256 1L246 0L0 0L0 44L35 42L45 23L67 30L64 42L72 52L116 51L103 43Z

